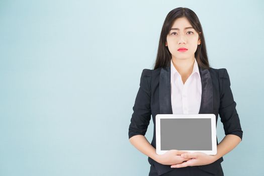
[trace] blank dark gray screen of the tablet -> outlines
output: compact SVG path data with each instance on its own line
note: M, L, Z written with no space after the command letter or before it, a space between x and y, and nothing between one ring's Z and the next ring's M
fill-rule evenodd
M160 119L161 150L212 150L211 119Z

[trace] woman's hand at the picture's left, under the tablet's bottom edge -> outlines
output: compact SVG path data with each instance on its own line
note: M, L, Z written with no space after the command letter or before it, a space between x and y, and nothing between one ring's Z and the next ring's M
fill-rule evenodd
M164 164L164 165L173 165L179 164L184 161L187 161L191 158L182 158L182 153L188 153L187 151L180 151L180 150L168 150L164 154L157 156L157 162Z

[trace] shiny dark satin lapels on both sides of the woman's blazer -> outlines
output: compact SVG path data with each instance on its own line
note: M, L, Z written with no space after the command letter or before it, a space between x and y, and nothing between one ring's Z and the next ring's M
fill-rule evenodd
M199 66L202 83L202 97L199 114L213 114L213 86L208 69ZM161 68L159 75L159 111L160 114L172 114L170 95L170 65Z

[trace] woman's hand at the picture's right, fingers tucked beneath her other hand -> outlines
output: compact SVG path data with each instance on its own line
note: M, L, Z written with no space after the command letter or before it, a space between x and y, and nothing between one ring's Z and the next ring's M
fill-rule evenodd
M189 159L188 161L183 162L181 164L171 165L170 167L171 168L180 168L180 167L186 167L186 166L206 165L206 164L210 164L210 163L216 161L216 159L213 155L208 155L208 154L202 153L202 152L183 153L183 154L181 154L181 157L192 158L192 159Z

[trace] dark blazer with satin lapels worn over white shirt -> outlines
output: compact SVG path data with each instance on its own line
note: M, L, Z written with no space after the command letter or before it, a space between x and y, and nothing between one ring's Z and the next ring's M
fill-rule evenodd
M215 114L216 125L218 114L223 123L225 135L234 134L241 138L240 121L236 112L236 103L230 89L230 79L225 68L203 69L199 66L202 82L202 98L199 114ZM128 136L145 135L149 121L154 124L154 134L151 145L156 148L155 116L157 114L172 114L170 95L170 64L166 68L155 70L143 69L140 87L133 106L133 114L129 125ZM218 140L217 140L218 144ZM207 165L198 166L200 169L216 174L223 157ZM148 157L148 162L154 164L158 174L172 169L170 165L163 165Z

